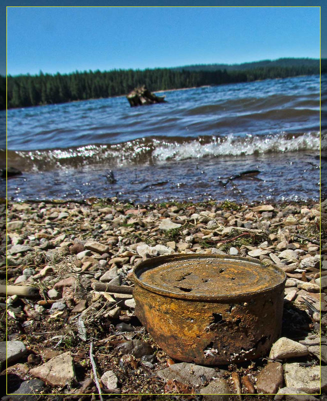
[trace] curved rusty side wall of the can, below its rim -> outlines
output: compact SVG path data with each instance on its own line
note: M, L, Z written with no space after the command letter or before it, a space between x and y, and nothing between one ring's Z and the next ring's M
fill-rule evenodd
M284 283L230 302L166 297L135 285L135 313L171 357L225 364L264 356L279 337Z

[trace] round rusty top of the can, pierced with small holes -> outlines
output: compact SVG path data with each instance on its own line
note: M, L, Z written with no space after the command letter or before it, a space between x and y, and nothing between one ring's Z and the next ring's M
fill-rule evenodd
M285 273L276 266L229 255L168 255L141 262L134 282L165 296L222 300L262 294L283 286Z

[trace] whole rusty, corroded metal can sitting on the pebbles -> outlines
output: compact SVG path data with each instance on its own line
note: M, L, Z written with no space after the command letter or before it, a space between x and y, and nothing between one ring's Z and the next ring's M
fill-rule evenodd
M134 271L136 315L173 358L200 364L265 355L281 329L283 271L245 258L169 255Z

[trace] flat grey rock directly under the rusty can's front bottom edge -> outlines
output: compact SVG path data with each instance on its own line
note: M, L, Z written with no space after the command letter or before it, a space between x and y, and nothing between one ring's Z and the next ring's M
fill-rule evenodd
M174 363L165 369L158 370L156 374L165 380L177 380L183 384L191 386L200 386L203 383L203 377L209 381L216 376L215 369L195 365L194 363Z

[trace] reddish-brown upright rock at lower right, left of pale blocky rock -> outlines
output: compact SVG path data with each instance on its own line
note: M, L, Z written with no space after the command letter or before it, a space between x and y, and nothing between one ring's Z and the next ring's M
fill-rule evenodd
M264 394L275 394L283 383L281 363L270 362L257 375L257 391Z

